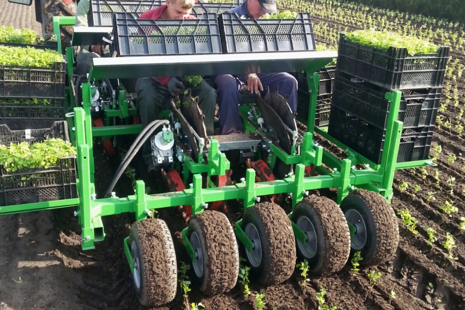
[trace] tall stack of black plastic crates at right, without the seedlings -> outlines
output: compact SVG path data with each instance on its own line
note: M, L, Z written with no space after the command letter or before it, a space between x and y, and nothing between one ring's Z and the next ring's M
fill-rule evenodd
M379 164L390 102L385 93L402 92L403 122L397 162L427 159L439 108L449 47L434 54L409 55L339 38L328 133Z

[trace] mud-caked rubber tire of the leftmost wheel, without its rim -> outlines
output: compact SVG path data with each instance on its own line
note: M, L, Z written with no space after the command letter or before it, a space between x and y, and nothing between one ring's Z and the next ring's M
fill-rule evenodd
M129 233L136 245L140 268L140 286L132 285L140 303L147 307L172 301L176 295L177 264L174 245L166 223L159 218L134 222Z

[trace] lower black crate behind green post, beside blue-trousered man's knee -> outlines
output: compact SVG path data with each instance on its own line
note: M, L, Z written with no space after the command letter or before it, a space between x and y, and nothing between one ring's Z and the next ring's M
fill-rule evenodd
M297 91L297 115L300 119L308 121L308 108L310 95L304 91ZM319 95L316 100L315 127L327 126L329 111L331 110L331 94Z

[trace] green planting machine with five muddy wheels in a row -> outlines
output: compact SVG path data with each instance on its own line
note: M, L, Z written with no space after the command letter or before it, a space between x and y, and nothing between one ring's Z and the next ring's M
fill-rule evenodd
M73 23L74 17L53 17L55 31ZM354 251L361 251L362 264L367 266L393 257L399 238L397 219L389 205L394 171L433 165L427 152L418 160L398 160L404 133L398 120L402 90L383 92L381 99L388 104L379 160L368 159L329 135L327 126L315 127L317 72L337 57L336 51L268 48L263 52L123 54L124 40L115 37L116 28L75 27L74 46L119 42L111 57L93 59L90 73L81 82L76 82L73 74L73 49L66 48L65 98L71 108L66 116L69 137L77 149L77 195L0 206L0 214L77 206L82 249L87 250L104 240L102 216L133 213L134 223L122 250L140 302L152 306L171 301L177 285L172 236L166 223L153 215L159 208L176 207L183 214L182 242L195 283L206 295L234 287L241 248L253 279L265 285L288 279L297 259L308 261L311 274L323 275L342 269ZM207 136L196 98L188 92L179 98L180 106L171 99L171 108L142 130L137 123L136 95L126 86L131 79L152 76L247 72L304 72L308 115L298 116L305 119L305 132L297 128L295 113L274 89L264 98L248 95L252 100L239 106L244 133ZM331 118L329 122L331 127ZM350 134L349 127L340 125L339 130ZM316 134L338 146L345 158L318 145ZM137 138L105 196L96 197L93 148L100 147L96 142L102 140L106 152L111 153L111 138L119 135ZM155 169L171 191L147 194L144 182L137 180L134 194L119 198L112 192L113 186L147 139ZM229 161L227 152L239 154L232 158L246 166L235 183L231 167L237 162ZM309 191L322 188L337 189L336 202L309 195ZM282 197L291 201L287 214L275 203ZM224 203L236 199L243 204L243 215L231 225L222 211Z

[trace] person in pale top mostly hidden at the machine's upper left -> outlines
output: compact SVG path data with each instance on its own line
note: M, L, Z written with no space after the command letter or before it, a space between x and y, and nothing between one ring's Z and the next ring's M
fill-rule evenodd
M88 27L87 13L89 11L89 0L80 0L76 6L76 21L74 26ZM106 45L84 45L80 47L80 51L76 57L76 70L77 75L87 75L90 71L92 59L101 56L107 56L109 53L108 46Z

